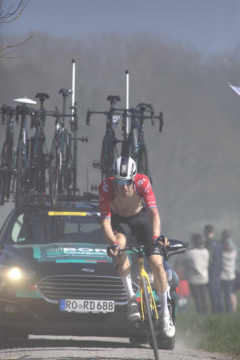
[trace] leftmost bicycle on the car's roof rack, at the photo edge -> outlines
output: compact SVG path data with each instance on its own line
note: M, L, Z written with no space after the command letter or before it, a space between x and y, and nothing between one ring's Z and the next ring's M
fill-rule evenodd
M10 198L10 186L14 174L16 149L13 134L13 115L15 109L4 104L4 106L1 107L1 110L2 124L4 125L6 121L6 140L4 141L3 150L0 156L0 203L3 205L5 197L8 200Z

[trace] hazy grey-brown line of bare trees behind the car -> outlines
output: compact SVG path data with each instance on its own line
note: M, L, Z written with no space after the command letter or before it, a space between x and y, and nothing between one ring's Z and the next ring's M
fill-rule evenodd
M0 47L11 41L11 36L1 37ZM20 43L21 39L14 36L16 41ZM130 107L149 102L156 114L164 114L161 134L157 121L155 127L145 122L162 233L188 241L191 232L201 232L205 224L211 223L217 235L223 228L230 228L239 241L240 97L228 82L240 86L240 45L234 53L206 58L194 48L146 33L128 37L93 34L74 40L34 33L20 48L17 51L27 53L23 58L0 59L1 106L14 105L12 99L24 95L35 99L36 93L46 92L50 99L45 108L62 109L58 91L71 87L72 59L76 60L78 135L89 137L87 144L78 144L81 193L87 190L87 167L88 190L101 181L100 170L93 169L92 162L100 160L105 132L104 116L92 116L91 126L85 125L87 109L109 109L106 99L110 94L121 96L119 106L124 107L128 69ZM67 103L70 105L71 98ZM1 126L2 143L5 128ZM17 144L16 123L14 129ZM53 118L47 119L45 133L50 149ZM29 136L32 134L29 131ZM121 134L120 126L119 139Z

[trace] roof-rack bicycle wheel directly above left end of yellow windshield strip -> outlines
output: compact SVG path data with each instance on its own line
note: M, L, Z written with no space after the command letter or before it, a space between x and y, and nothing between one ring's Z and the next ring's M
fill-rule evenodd
M60 196L60 146L58 139L53 139L49 164L49 197L52 207L56 206Z

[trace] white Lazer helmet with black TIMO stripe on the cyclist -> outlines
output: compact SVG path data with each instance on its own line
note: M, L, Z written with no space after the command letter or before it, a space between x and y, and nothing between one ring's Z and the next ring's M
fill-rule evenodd
M136 162L129 156L121 156L113 163L112 174L118 185L132 184L136 173Z

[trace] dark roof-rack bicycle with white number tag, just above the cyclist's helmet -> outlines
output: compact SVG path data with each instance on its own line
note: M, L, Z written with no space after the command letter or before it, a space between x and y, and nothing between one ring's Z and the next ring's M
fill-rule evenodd
M87 109L86 125L90 125L91 114L105 114L107 115L106 120L106 131L102 142L100 162L94 160L93 167L100 167L102 181L112 176L112 165L115 160L115 152L118 157L117 143L123 143L123 140L117 140L115 136L114 127L119 125L119 115L123 114L125 109L116 109L114 105L117 101L120 101L120 96L109 95L107 101L110 101L109 111L90 111ZM120 111L120 112L119 112ZM115 116L114 116L115 114Z

